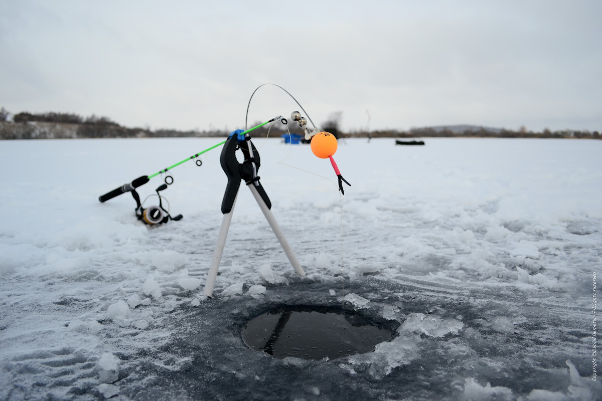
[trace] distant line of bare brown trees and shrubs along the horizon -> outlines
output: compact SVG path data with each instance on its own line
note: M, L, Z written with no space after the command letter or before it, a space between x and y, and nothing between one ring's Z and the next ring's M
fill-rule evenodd
M343 112L335 112L329 115L326 121L320 124L320 128L333 133L337 138L340 137L393 137L393 138L416 138L416 137L482 137L482 138L592 138L600 139L598 131L590 132L588 130L557 130L552 132L550 129L544 129L542 132L527 131L522 126L518 130L501 129L491 130L484 127L469 128L465 130L435 129L432 127L412 128L409 130L354 130L344 133L340 129L340 121ZM178 138L178 137L202 137L202 136L226 136L229 130L187 130L179 131L175 129L156 129L134 127L128 128L117 124L108 117L81 117L73 113L45 112L30 113L20 112L14 114L12 121L8 121L10 113L4 108L0 108L0 139L59 139L59 138ZM256 121L248 128L261 124L262 121ZM311 125L311 124L310 124ZM288 130L287 130L288 128ZM283 126L278 121L272 124L266 124L253 130L255 137L279 137L283 133L297 133L302 135L300 129L294 121L289 121L287 126Z

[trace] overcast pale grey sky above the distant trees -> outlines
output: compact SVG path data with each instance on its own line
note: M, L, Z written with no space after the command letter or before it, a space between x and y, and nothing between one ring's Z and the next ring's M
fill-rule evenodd
M0 106L236 129L273 82L318 125L602 129L602 2L0 0ZM249 121L297 106L275 87Z

